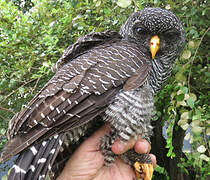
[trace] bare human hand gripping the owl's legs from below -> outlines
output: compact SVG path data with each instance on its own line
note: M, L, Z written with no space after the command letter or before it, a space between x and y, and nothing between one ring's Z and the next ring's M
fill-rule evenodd
M99 150L100 139L108 134L110 128L104 125L85 140L66 163L57 180L133 180L134 170L117 158L110 166L104 166L104 157ZM122 154L129 149L139 154L149 153L151 146L144 139L131 139L128 142L116 140L112 145L115 154ZM150 154L154 167L156 158Z

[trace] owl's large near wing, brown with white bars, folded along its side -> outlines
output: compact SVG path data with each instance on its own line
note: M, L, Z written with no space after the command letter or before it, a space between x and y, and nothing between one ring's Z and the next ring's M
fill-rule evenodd
M104 112L138 69L148 65L148 57L135 44L122 41L98 46L65 64L27 108L11 120L10 140L1 161L36 141L92 120ZM143 69L148 75L149 68Z

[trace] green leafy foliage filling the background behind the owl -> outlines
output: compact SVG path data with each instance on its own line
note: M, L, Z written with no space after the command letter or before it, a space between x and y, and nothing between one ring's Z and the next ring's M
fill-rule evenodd
M14 3L15 2L15 3ZM198 179L209 173L210 105L209 8L206 1L178 0L31 0L0 1L0 148L9 119L52 77L51 66L68 45L93 31L119 30L129 14L146 6L172 10L185 26L186 47L173 75L156 96L155 121L167 127L168 156L173 138L186 131L191 149L179 167L193 166ZM27 1L25 1L27 2ZM165 174L163 168L157 168Z

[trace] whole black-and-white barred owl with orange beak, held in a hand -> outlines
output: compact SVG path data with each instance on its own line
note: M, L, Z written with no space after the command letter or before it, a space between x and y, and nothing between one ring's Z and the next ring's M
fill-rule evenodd
M48 171L55 178L75 147L104 122L111 127L100 144L105 165L115 160L115 139L149 140L153 96L184 42L179 19L160 8L133 13L119 33L79 38L55 64L52 79L9 123L1 161L20 154L9 180L45 179ZM62 153L69 156L62 159ZM133 150L120 158L136 171L141 161L151 162Z

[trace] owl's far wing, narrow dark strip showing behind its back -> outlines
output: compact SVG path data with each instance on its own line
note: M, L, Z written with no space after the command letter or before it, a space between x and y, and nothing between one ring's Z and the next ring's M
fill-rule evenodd
M118 32L115 31L104 31L104 32L93 32L85 36L80 37L74 44L70 45L63 53L61 58L53 66L53 72L56 72L67 62L73 60L81 54L84 54L91 48L94 48L100 44L104 44L107 41L114 41L115 39L121 39Z

